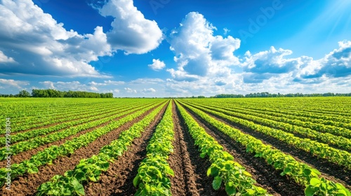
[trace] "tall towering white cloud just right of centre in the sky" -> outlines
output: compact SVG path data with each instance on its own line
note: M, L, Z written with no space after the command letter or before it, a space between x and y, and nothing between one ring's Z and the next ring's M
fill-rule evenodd
M189 13L185 16L180 27L171 32L169 43L175 53L174 61L178 70L167 69L176 80L195 80L211 73L223 74L230 71L226 66L239 64L234 56L234 50L240 45L240 40L232 36L214 36L216 30L204 15Z

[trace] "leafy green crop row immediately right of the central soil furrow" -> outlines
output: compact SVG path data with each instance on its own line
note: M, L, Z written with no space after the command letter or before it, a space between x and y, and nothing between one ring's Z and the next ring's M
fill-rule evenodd
M177 107L195 145L201 151L200 157L205 158L207 155L211 162L207 175L214 178L213 189L218 190L224 183L228 195L268 195L267 190L254 185L256 181L252 179L249 172L245 171L245 167L235 162L230 153L223 151L223 146L220 146L216 139L207 134L182 106L177 103Z

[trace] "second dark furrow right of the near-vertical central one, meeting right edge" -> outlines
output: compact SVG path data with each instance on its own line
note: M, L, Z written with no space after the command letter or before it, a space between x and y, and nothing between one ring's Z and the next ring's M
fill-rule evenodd
M293 156L293 158L295 158L297 161L303 162L307 165L310 165L311 167L314 167L315 169L318 169L325 179L341 183L347 189L351 189L350 169L346 169L343 166L337 165L335 163L329 162L321 158L317 158L317 156L313 156L311 153L307 153L294 146L287 145L284 142L275 139L274 137L270 137L260 132L256 132L243 125L233 123L232 121L217 116L216 114L208 113L206 111L204 112L207 113L209 116L216 118L216 120L219 120L220 122L226 123L227 125L230 125L231 127L240 130L244 134L250 134L252 137L260 139L261 141L263 141L264 144L273 146L274 148L279 149L283 153Z

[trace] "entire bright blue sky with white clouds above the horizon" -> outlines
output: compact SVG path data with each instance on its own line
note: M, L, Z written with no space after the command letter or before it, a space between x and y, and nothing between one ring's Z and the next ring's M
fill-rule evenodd
M0 93L351 92L349 10L349 0L0 0Z

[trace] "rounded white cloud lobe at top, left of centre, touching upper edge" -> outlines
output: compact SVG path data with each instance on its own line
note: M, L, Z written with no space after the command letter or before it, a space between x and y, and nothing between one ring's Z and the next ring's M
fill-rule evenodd
M107 40L114 50L143 54L161 43L163 34L157 22L145 19L133 5L133 0L98 1L91 6L102 16L114 17L112 30L107 32Z

